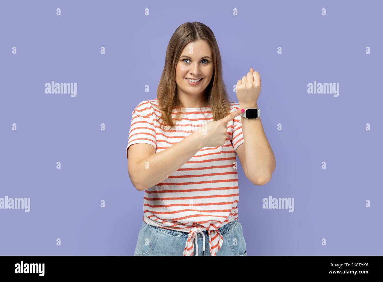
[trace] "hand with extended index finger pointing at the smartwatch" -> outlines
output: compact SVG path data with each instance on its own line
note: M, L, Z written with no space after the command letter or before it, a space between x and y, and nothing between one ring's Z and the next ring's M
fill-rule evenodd
M228 131L228 122L240 114L242 114L241 109L238 109L235 112L228 114L223 119L207 122L205 125L203 125L202 130L198 130L202 148L217 147L223 145L226 141L226 138L229 137L226 134Z

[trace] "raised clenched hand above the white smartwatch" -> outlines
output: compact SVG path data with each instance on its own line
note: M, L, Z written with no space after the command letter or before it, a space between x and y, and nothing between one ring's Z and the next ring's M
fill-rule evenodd
M261 77L257 71L250 72L237 82L237 99L240 105L257 105L261 92Z

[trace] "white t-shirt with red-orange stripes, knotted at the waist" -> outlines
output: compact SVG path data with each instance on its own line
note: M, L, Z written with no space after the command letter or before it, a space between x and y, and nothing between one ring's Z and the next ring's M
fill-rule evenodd
M230 112L237 109L239 103L230 102ZM213 121L210 107L184 108L182 113L175 120L175 127L169 129L165 125L162 130L157 99L140 102L132 114L126 150L130 145L147 143L158 153L183 140L201 124ZM173 120L175 115L176 110L173 110ZM230 138L226 138L223 145L201 148L166 180L144 191L145 223L189 233L184 256L193 255L193 239L205 230L209 236L210 253L215 256L223 243L218 228L238 219L235 150L244 143L241 116L228 122L227 134ZM205 246L205 236L203 239Z

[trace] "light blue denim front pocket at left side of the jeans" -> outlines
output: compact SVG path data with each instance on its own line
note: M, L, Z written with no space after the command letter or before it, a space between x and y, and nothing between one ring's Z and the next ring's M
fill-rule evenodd
M158 229L144 223L138 234L134 256L148 256L154 249L158 237Z

